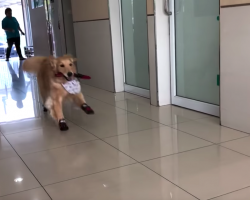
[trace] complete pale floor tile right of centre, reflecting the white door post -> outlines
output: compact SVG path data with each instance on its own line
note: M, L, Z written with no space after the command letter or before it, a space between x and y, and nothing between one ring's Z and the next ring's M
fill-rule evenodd
M210 142L169 127L111 137L105 139L105 141L137 161L145 161L212 145Z

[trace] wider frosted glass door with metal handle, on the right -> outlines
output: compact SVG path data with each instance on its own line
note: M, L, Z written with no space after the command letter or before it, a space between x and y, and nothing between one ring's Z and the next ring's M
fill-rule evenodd
M220 1L166 1L172 104L219 116Z

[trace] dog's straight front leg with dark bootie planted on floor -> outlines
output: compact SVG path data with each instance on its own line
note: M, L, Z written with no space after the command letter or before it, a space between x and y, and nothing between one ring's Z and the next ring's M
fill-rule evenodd
M69 129L66 120L63 116L62 99L53 100L53 106L51 107L51 115L58 121L58 125L61 131L67 131Z

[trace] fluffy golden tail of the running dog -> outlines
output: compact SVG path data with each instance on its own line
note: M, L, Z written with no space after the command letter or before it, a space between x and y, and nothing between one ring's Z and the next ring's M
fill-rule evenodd
M46 60L46 57L31 57L24 61L22 67L23 70L30 73L35 73L39 71L42 67L43 62Z

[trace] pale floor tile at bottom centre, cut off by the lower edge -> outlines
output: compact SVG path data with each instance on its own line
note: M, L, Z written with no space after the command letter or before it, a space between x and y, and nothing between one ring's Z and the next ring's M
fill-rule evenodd
M195 200L180 188L136 164L46 186L53 200Z

